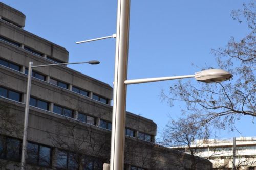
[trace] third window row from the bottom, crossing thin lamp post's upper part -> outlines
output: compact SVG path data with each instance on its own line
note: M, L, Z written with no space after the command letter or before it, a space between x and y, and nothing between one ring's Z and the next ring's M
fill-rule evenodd
M20 65L14 64L12 62L9 62L9 61L3 60L3 59L0 59L0 65L6 66L8 68L14 69L14 70L19 71L19 72L21 72L21 70L22 70L22 67ZM26 75L28 74L28 68L25 69L25 74ZM32 71L32 77L35 77L37 79L46 81L46 75L42 75L39 72L34 71L34 70ZM65 83L65 82L62 82L62 81L59 81L59 80L56 80L56 79L53 79L53 78L50 78L50 83L54 84L56 86L65 88L65 89L69 88L69 84L68 83ZM73 92L79 93L79 94L81 94L83 96L89 97L89 92L86 91L86 90L80 89L80 88L75 87L75 86L72 86L71 90ZM93 99L97 100L99 102L108 104L108 99L103 98L103 97L101 97L101 96L99 96L97 94L93 94Z

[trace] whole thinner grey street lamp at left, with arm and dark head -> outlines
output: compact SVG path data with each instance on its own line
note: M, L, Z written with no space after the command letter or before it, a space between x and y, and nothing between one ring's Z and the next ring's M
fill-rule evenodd
M32 78L33 68L56 66L56 65L84 64L84 63L99 64L100 62L97 61L97 60L91 60L91 61L87 61L87 62L58 63L58 64L36 65L36 66L33 66L33 62L29 62L28 80L27 80L27 94L26 94L25 114L24 114L23 141L22 141L22 159L20 161L20 169L24 170L25 165L26 165L27 132L28 132L28 118L29 118L29 100L30 100L31 78Z

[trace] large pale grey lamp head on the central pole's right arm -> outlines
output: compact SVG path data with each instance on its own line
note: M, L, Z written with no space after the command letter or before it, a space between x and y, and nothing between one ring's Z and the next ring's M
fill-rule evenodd
M197 81L211 83L222 82L232 78L232 74L222 69L208 69L200 72L196 72L195 79Z

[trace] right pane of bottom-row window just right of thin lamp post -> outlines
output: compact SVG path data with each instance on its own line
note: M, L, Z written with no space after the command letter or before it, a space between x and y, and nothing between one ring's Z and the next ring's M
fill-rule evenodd
M39 165L50 166L51 165L51 148L40 146L39 151Z

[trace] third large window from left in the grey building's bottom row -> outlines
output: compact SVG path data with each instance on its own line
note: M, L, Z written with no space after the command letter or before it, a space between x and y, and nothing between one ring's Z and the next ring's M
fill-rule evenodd
M76 154L58 150L56 153L57 167L65 169L77 169L78 165L76 158Z

